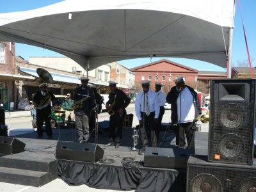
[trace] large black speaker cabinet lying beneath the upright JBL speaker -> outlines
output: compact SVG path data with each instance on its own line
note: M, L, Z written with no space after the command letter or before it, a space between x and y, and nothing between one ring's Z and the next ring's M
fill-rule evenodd
M187 192L255 191L256 166L212 163L207 156L190 156L187 169Z

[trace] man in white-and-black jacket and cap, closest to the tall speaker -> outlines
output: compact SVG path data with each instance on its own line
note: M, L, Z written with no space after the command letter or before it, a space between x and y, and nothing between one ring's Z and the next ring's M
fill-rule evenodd
M188 148L195 148L196 117L201 115L200 102L198 95L188 85L184 79L178 77L174 80L176 86L170 90L166 96L166 101L172 104L172 124L175 125L176 145L185 148L186 141Z

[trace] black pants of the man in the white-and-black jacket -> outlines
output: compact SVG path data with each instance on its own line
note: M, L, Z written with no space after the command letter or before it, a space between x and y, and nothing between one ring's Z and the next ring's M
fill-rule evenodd
M177 124L174 128L176 135L176 145L180 147L186 145L185 134L188 142L188 148L195 148L195 132L196 123L188 122L184 124Z

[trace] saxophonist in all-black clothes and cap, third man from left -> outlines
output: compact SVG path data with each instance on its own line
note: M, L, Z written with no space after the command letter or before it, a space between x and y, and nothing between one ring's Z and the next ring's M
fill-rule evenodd
M130 104L130 99L122 90L116 88L115 81L109 81L109 100L106 102L107 111L113 110L114 115L109 116L109 143L106 146L120 146L122 140L123 122L126 115L127 106Z

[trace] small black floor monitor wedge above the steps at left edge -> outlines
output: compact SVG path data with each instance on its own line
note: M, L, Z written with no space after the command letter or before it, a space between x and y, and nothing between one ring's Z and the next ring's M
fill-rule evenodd
M15 138L0 136L0 153L17 154L24 151L26 144Z

